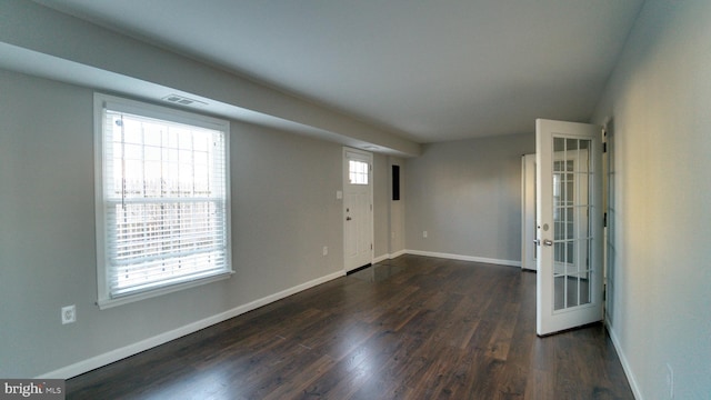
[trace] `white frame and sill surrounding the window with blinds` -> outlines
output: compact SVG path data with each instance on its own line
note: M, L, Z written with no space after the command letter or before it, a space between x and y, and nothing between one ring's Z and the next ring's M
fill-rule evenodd
M97 286L98 301L100 309L107 309L120 304L126 304L178 290L183 290L218 280L230 278L234 271L231 266L231 228L230 228L230 123L212 117L206 117L192 112L176 110L171 108L144 103L141 101L118 98L113 96L94 93L94 192L96 192L96 222L97 222ZM192 278L166 279L162 283L153 283L149 288L141 288L128 293L112 293L110 284L110 262L108 260L107 243L110 236L107 221L108 199L104 190L104 123L106 110L124 112L143 118L151 118L180 124L194 126L200 128L221 131L224 134L224 227L226 227L226 261L220 270L199 274ZM168 281L168 282L166 282Z

